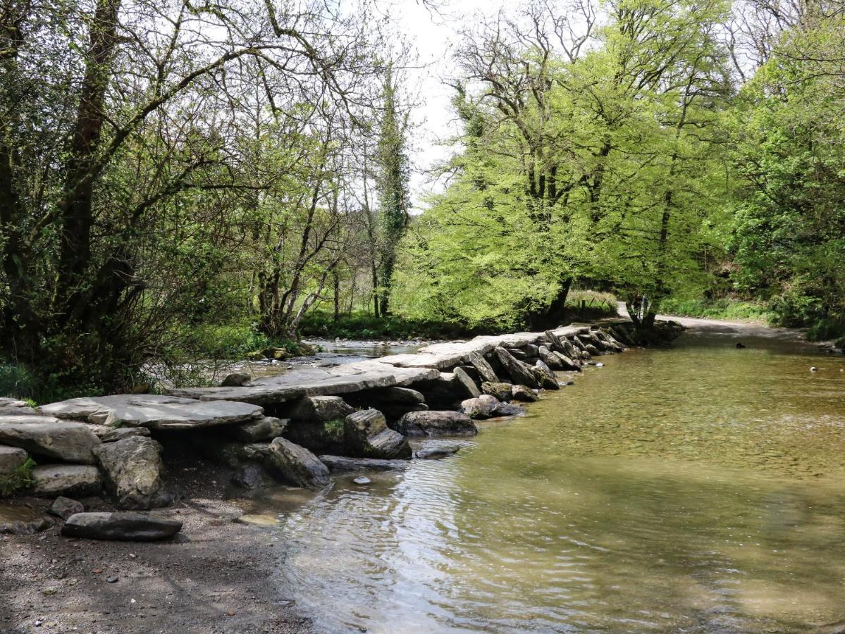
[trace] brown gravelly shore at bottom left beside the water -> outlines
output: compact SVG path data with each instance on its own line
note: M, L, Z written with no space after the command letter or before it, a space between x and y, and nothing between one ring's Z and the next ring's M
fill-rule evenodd
M0 632L310 631L278 573L281 535L240 522L244 509L222 501L226 471L192 460L167 478L183 499L155 514L183 522L175 539L68 539L58 528L0 535ZM13 503L45 510L51 501Z

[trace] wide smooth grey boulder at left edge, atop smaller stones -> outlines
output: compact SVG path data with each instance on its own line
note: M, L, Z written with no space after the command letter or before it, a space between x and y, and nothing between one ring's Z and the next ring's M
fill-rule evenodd
M68 463L93 464L100 439L85 423L52 416L0 417L0 443Z

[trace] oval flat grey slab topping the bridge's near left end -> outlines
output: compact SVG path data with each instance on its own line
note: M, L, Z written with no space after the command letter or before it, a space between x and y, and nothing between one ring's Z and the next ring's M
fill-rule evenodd
M254 404L226 399L207 403L195 398L161 394L115 394L94 398L71 398L59 403L42 405L39 409L41 414L61 419L90 419L94 416L99 420L103 415L112 415L113 420L120 425L161 430L233 425L259 419L263 415L262 409Z

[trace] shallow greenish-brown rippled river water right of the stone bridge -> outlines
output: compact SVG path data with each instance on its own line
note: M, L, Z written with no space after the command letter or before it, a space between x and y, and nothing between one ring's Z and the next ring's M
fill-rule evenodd
M845 619L845 359L728 329L602 362L454 458L262 501L315 629Z

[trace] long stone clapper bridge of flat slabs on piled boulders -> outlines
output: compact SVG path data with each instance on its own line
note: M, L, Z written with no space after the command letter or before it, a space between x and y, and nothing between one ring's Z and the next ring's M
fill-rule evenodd
M673 336L683 330L663 326ZM433 344L414 355L297 369L237 387L72 398L37 410L0 398L0 477L31 456L37 466L26 494L103 495L118 509L149 510L172 501L160 441L188 441L234 469L233 484L254 488L273 479L319 489L333 472L406 467L414 457L409 436L472 436L476 419L520 415L513 401L557 389L554 371L580 371L591 357L631 344L630 322L607 322ZM417 458L455 451L434 447ZM79 513L68 524L84 515L104 514ZM91 536L103 533L104 521L90 518L97 524Z

